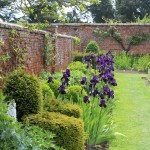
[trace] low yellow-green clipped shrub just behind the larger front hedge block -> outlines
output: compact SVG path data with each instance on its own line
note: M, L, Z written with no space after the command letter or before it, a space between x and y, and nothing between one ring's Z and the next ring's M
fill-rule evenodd
M57 99L51 99L44 101L44 109L49 112L60 112L67 116L73 116L75 118L81 117L81 109L76 104L70 104Z

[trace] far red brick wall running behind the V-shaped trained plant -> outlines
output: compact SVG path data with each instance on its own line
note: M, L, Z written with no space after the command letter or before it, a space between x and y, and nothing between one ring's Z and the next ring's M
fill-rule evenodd
M120 52L121 45L112 37L107 37L104 40L93 35L93 31L98 28L101 31L106 31L110 26L116 27L121 37L123 44L127 48L129 45L128 38L133 35L150 33L150 24L86 24L86 23L70 23L70 24L51 24L49 31L58 32L71 36L77 36L81 39L81 45L78 50L83 51L90 40L96 40L99 43L100 49ZM131 52L134 54L150 54L150 40L143 41L139 45L132 45Z

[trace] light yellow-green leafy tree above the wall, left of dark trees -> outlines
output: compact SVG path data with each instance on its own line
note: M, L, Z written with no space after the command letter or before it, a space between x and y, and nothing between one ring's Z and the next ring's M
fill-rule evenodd
M68 7L74 7L78 12L86 10L90 3L96 3L99 0L17 0L17 7L24 16L32 23L44 23L64 21L65 11Z

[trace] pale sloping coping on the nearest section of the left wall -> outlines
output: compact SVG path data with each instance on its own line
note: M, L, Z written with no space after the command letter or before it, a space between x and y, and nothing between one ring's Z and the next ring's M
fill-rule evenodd
M41 33L45 34L46 31L43 30L29 30L27 27L20 26L18 24L12 24L12 23L7 23L7 22L0 22L0 28L5 28L5 29L14 29L14 30L19 30L19 31L30 31L34 33Z

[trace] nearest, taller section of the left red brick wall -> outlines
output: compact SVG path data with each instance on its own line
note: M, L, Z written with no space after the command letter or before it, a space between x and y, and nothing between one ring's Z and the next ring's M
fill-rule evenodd
M44 37L45 37L45 31L28 31L26 28L11 25L11 24L4 24L0 23L0 39L3 41L4 45L0 47L0 56L2 54L8 54L12 56L12 52L9 47L9 38L10 34L9 32L11 30L16 30L20 33L22 44L26 44L26 61L25 61L25 67L28 72L39 74L39 72L43 69L43 52L44 52ZM20 41L19 39L16 41ZM19 44L19 43L17 43ZM8 60L5 67L0 61L0 70L2 70L2 73L7 73L14 68L13 59ZM2 68L3 67L3 68Z

